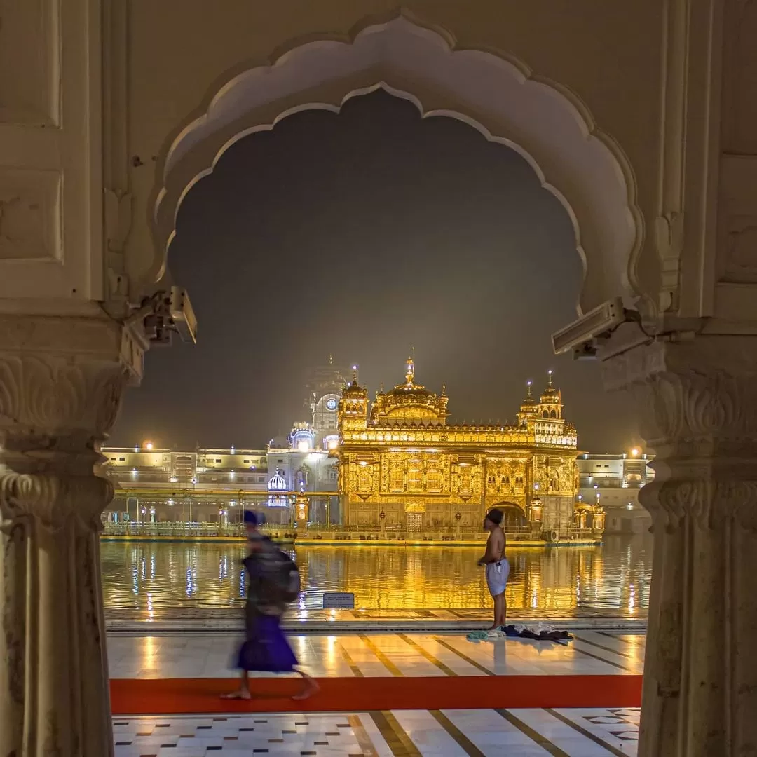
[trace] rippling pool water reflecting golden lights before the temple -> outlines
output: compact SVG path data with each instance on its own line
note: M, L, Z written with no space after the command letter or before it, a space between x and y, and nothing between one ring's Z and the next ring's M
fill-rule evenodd
M301 607L324 591L352 591L356 608L491 606L480 547L297 547ZM212 542L101 544L106 609L135 615L166 608L232 607L245 595L245 545ZM649 534L608 537L602 547L508 547L509 609L645 609L652 575Z

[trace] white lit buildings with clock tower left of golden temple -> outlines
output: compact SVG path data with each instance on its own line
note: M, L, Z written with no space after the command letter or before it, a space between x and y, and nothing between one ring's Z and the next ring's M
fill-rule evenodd
M338 522L338 461L329 456L338 441L337 420L344 372L329 366L307 371L310 422L297 422L286 437L265 449L157 449L104 447L104 472L116 496L105 510L111 525L211 523L241 519L245 506L263 510L272 524L288 524L300 512L295 493L313 494L313 522ZM326 494L334 492L331 496Z

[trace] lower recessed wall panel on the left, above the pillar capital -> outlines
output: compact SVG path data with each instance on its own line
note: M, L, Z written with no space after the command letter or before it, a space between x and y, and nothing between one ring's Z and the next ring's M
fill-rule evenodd
M0 260L62 258L61 174L0 168Z

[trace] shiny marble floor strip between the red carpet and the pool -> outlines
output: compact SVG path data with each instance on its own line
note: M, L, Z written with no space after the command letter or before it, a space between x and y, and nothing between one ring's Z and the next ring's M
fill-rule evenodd
M573 636L565 646L519 638L473 643L464 634L308 634L290 640L303 669L316 677L643 672L644 634L575 631ZM111 678L231 677L237 643L221 634L112 636Z

